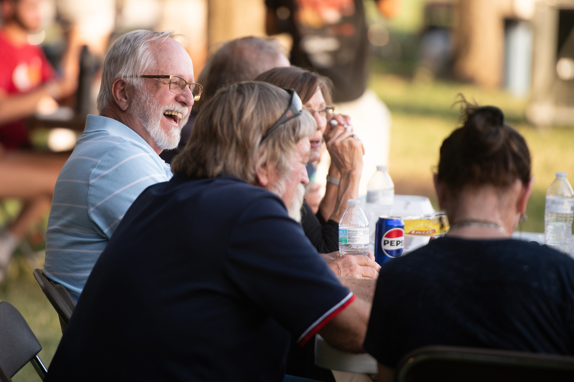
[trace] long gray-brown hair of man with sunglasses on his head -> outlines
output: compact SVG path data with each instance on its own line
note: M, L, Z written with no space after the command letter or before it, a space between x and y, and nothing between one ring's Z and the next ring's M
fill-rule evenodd
M284 89L263 82L220 88L197 114L187 145L173 160L173 171L194 178L224 173L253 182L255 166L273 164L284 175L297 142L316 130L315 119L304 110L261 141L290 102Z

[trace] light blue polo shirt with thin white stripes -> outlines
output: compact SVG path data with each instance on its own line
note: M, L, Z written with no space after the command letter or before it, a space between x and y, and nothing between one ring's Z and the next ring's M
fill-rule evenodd
M88 115L82 137L54 189L44 273L77 301L119 222L148 186L168 181L170 167L137 132Z

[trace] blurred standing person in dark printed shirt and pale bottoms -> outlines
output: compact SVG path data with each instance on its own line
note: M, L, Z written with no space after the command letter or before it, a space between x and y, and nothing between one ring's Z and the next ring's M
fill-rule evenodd
M399 1L377 0L378 9L383 16L394 17ZM354 132L364 143L359 195L366 194L376 166L388 163L391 119L385 104L366 89L370 46L363 0L266 0L265 4L267 34L293 37L291 63L333 81L336 110L351 116ZM329 167L325 157L316 177L322 188Z

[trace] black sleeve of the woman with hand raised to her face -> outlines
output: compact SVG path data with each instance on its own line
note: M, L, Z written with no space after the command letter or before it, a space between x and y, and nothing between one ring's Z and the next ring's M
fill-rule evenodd
M301 225L305 235L320 254L339 251L339 223L328 220L321 225L306 201L303 201L301 207Z

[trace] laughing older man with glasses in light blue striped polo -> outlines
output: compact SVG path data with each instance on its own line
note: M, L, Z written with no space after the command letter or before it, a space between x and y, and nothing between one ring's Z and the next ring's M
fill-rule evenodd
M177 147L201 95L191 59L173 37L135 30L114 42L102 72L100 115L88 115L56 182L44 273L76 301L135 198L172 177L158 154Z

